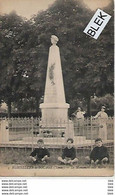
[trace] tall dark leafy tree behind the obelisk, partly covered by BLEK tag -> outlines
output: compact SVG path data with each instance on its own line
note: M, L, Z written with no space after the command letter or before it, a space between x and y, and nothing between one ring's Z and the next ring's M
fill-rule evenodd
M105 10L113 16L112 7L113 4ZM113 19L94 40L83 33L93 14L79 1L57 0L34 17L39 48L47 50L51 34L59 37L67 101L85 98L88 115L94 93L98 96L113 93ZM44 69L45 60L46 57L41 60Z

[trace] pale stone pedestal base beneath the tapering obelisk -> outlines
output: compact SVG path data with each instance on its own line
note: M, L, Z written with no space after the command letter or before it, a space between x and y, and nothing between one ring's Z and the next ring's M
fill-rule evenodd
M73 122L68 119L69 104L43 103L40 104L40 108L42 110L41 137L73 138Z

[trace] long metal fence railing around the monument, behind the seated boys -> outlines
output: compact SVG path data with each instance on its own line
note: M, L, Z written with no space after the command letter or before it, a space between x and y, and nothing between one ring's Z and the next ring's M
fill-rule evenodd
M114 120L75 119L68 121L42 121L40 118L1 118L0 143L36 144L42 138L46 145L64 145L67 138L75 145L91 145L101 137L104 142L114 139Z

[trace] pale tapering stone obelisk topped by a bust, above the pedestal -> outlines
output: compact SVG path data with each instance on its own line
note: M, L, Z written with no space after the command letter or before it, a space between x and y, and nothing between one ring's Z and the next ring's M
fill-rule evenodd
M44 103L65 103L60 51L56 45L58 41L57 36L51 36Z

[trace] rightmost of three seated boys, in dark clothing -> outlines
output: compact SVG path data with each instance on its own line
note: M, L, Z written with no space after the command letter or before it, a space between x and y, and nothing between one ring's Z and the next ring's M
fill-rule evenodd
M91 151L90 163L91 164L106 164L109 163L109 154L107 147L103 146L102 139L95 140L96 147Z

